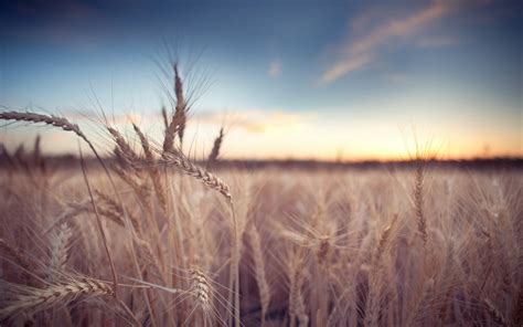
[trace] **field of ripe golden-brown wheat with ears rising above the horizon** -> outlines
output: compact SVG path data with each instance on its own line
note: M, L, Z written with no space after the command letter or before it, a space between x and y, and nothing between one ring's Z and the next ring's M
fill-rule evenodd
M6 326L521 326L523 176L434 168L220 169L106 124L111 157L64 117L4 109L82 141L54 167L3 151Z

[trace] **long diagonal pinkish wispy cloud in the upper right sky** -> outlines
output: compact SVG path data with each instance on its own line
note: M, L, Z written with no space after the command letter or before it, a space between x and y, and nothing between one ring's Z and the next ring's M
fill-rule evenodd
M342 48L342 59L330 66L321 76L320 85L325 85L374 61L377 51L384 44L398 39L409 38L424 28L448 14L452 6L447 1L433 1L425 8L403 19L392 19L378 23L369 33L352 40Z

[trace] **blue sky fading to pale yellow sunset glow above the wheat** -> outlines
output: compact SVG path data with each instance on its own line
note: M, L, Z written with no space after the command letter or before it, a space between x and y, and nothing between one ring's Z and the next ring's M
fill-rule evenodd
M3 1L0 105L64 115L107 150L99 108L160 139L178 61L195 157L222 125L228 159L401 159L415 138L440 158L521 157L521 3ZM52 128L0 126L11 148L40 134L77 151Z

